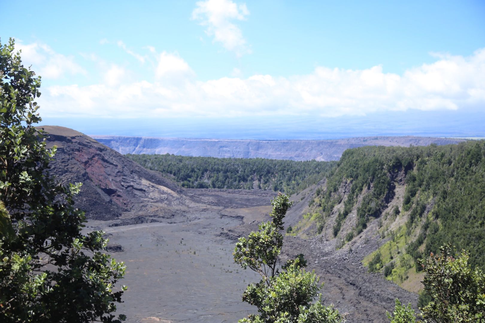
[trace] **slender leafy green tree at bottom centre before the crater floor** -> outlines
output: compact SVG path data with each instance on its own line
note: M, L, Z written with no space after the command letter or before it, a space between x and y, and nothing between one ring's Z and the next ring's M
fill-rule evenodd
M234 262L242 268L259 273L259 283L251 283L242 294L242 300L258 308L239 322L264 323L339 323L344 317L332 306L325 307L321 295L311 303L321 288L319 277L303 268L303 255L278 267L278 256L283 246L283 218L293 202L288 195L278 193L272 200L272 220L259 225L247 238L239 238L234 248Z

